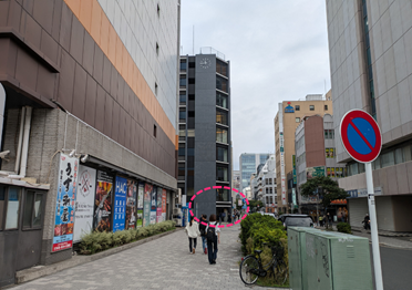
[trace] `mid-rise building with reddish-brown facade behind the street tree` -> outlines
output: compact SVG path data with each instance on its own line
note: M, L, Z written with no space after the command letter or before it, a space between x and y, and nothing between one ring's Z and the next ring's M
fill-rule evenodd
M300 186L302 184L318 176L328 176L333 180L344 176L344 164L337 163L334 156L336 138L333 127L332 115L325 114L323 116L306 116L296 128L296 189L299 211L302 214L316 213L316 207L320 204L321 198L318 199L315 193L313 197L301 196ZM321 209L321 207L319 208ZM320 211L322 214L323 209ZM336 216L337 213L331 210L330 215ZM317 218L315 217L315 219Z

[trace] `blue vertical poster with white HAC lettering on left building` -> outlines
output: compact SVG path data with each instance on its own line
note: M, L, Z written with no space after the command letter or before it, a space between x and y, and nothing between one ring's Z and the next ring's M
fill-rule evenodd
M127 179L116 176L116 190L114 193L113 232L123 230L126 220Z

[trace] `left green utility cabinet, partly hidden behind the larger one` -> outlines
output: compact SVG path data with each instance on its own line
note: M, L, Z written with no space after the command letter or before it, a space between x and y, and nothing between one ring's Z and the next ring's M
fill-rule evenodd
M321 232L321 230L307 227L288 227L289 283L293 290L308 289L307 232Z

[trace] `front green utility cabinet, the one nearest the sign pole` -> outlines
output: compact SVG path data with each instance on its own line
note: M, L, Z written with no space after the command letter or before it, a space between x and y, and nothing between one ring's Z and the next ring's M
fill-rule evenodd
M369 239L341 232L307 232L308 289L373 289Z

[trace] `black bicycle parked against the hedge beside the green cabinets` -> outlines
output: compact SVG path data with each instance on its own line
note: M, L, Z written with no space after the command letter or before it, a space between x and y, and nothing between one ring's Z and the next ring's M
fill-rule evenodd
M262 246L269 245L264 242ZM245 284L256 283L259 277L266 277L267 275L272 276L277 286L284 286L288 279L288 267L284 261L285 249L280 242L270 245L272 257L270 261L262 266L260 253L262 250L255 250L258 258L254 255L241 258L239 275L240 279Z

